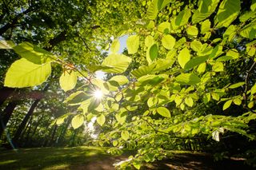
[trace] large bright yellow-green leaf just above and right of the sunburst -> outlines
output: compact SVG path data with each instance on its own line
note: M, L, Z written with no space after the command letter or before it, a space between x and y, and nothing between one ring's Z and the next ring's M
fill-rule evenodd
M130 65L131 58L122 54L112 53L104 59L102 65L113 67L112 69L102 69L106 73L123 73Z

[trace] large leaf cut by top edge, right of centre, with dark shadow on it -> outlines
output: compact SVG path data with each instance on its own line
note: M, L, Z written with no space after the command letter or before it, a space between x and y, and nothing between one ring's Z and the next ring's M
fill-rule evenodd
M193 24L201 22L202 20L210 17L218 6L219 0L200 0L198 1L198 10L192 16Z

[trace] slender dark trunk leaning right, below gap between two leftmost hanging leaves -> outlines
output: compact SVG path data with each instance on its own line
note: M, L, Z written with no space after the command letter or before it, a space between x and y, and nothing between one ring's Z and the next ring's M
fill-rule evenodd
M48 88L49 88L49 84L47 84L45 88L42 89L42 92L45 92ZM37 107L39 101L41 101L41 99L37 99L34 101L34 103L30 106L28 113L26 113L26 116L24 117L21 125L18 126L18 129L15 132L14 139L13 139L14 144L18 144L18 139L20 138L22 131L26 127L27 121L29 121L31 115L34 113L34 109Z

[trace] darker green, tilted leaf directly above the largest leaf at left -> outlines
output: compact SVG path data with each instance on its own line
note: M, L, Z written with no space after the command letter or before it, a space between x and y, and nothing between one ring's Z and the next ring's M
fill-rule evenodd
M21 44L14 46L13 49L16 53L18 53L18 55L37 65L42 65L56 59L54 55L45 49L41 49L36 45L30 44L29 42L22 42Z

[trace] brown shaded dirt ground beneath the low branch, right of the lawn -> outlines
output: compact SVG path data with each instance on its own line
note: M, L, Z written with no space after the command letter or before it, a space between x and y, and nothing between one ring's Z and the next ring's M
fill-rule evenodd
M69 169L88 169L88 170L114 170L113 164L125 160L125 156L110 157L105 160L96 160L90 164L71 166ZM174 170L190 170L190 169L242 169L250 170L255 169L244 164L242 159L226 159L218 162L214 162L212 156L206 153L181 153L176 154L174 157L166 160L154 162L153 164L146 164L142 167L146 170L157 170L157 169L174 169Z

